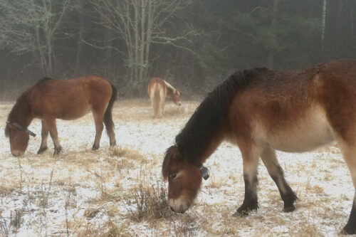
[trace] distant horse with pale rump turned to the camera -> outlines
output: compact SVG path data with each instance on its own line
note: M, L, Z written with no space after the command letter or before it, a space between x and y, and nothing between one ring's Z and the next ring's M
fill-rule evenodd
M176 105L181 105L179 91L162 78L152 78L148 83L148 95L153 109L153 117L162 117L164 100L169 95Z

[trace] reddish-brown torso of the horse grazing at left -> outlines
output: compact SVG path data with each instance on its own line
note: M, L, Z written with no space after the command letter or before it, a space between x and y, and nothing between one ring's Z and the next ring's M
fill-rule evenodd
M90 110L104 112L111 95L111 84L98 76L66 80L45 78L31 90L31 107L38 118L73 120Z

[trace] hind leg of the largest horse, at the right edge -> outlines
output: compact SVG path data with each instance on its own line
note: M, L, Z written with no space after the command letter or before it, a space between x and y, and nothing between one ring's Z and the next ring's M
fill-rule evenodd
M350 217L346 223L346 226L342 228L342 233L355 234L356 233L356 147L355 145L342 142L341 139L337 139L337 143L339 144L340 150L342 152L342 156L345 159L345 163L347 164L347 167L350 170L352 182L354 184L354 189L355 189Z

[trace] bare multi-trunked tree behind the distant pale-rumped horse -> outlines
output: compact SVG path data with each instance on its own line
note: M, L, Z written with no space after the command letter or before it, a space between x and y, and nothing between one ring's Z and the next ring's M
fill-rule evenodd
M189 41L191 29L176 36L168 36L164 29L174 14L191 0L91 0L100 13L101 24L125 41L127 68L130 84L140 88L147 77L152 43L182 47L181 41ZM103 20L104 19L104 20ZM184 47L182 47L184 48ZM185 48L190 51L189 48Z

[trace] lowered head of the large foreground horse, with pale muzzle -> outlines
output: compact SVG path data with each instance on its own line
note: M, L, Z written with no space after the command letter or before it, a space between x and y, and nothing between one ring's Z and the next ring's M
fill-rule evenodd
M193 164L184 157L177 146L167 149L162 164L162 176L168 179L168 201L173 211L183 213L193 203L201 186L201 178L207 179L207 169Z

